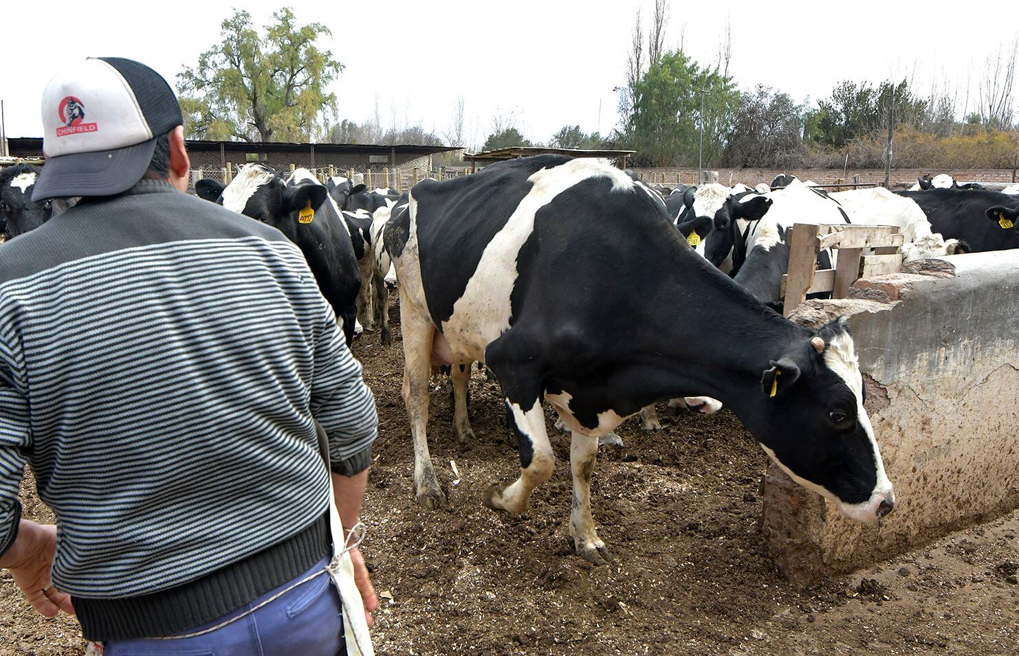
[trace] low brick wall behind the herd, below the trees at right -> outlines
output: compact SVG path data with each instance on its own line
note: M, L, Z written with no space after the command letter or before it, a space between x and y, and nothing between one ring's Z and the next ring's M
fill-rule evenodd
M675 184L677 181L685 184L693 184L697 181L697 169L694 167L677 168L635 168L634 171L641 173L645 181L661 181L662 174L665 175L665 183ZM884 169L849 169L843 174L842 169L711 169L718 171L718 181L726 185L743 182L753 186L758 182L770 183L780 173L791 173L801 180L813 180L818 184L836 184L838 182L852 182L854 175L860 176L860 182L884 182ZM960 182L1007 182L1016 180L1012 169L960 169L953 171L938 171L932 169L892 169L891 183L893 188L912 186L916 178L924 174L935 175L937 173L950 173ZM679 178L677 178L679 175Z

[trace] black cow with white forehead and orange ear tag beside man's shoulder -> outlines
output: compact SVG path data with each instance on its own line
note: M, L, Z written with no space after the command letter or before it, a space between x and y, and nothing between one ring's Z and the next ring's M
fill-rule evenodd
M207 201L273 226L296 243L322 295L342 321L346 343L352 342L361 274L346 223L314 173L298 169L284 181L264 164L245 164L229 185L203 179L195 190Z

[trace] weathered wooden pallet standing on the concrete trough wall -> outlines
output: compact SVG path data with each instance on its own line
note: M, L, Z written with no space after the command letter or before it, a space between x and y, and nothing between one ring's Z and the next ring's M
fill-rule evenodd
M785 315L790 316L807 294L830 291L833 298L845 298L859 278L899 272L903 244L899 230L895 225L795 224L789 237L789 273L782 277ZM823 249L835 249L834 269L817 269ZM863 255L864 249L872 249L874 255Z

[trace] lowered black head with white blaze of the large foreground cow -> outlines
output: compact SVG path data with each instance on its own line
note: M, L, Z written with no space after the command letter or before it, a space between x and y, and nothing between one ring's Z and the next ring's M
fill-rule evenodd
M895 494L863 408L863 380L842 320L805 331L762 372L754 434L797 483L874 524Z

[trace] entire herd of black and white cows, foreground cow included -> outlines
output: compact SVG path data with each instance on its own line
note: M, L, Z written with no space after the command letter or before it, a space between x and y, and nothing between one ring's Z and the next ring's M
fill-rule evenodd
M7 238L69 206L32 203L38 173L0 170ZM703 413L726 403L783 470L847 515L875 523L892 510L844 324L813 330L775 312L794 223L897 225L905 260L1019 248L1019 186L994 192L950 176L900 193L828 194L785 175L755 188L663 187L593 160L539 156L403 195L262 164L227 185L200 180L196 192L291 239L348 342L377 323L389 343L387 286L398 280L422 505L445 504L426 436L434 367L449 368L461 440L473 436L471 366L484 363L502 388L521 471L486 492L493 508L523 511L551 475L547 401L572 432L570 535L596 563L608 558L590 504L599 439L638 413L646 429L659 427L656 401Z

